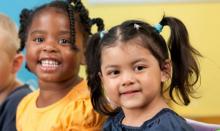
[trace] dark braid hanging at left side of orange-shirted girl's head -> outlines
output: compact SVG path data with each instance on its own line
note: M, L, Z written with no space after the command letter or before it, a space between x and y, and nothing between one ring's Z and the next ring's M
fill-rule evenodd
M22 51L25 47L25 41L27 39L27 25L29 25L29 18L32 15L32 10L23 9L20 14L20 28L18 31L18 37L20 38L20 48L18 52Z

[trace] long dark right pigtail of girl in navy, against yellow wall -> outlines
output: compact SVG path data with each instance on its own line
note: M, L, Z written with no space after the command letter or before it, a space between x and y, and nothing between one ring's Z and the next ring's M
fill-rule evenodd
M184 105L188 105L190 96L192 96L190 94L194 92L193 86L200 77L195 56L201 56L201 54L191 46L188 31L180 20L173 17L163 17L160 24L162 26L168 25L171 30L168 47L171 53L173 74L169 95L174 100L173 91L179 92L177 96Z

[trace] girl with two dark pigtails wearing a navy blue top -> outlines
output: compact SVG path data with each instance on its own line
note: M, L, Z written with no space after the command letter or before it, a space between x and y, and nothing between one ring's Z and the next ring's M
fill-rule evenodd
M171 30L167 44L160 35L164 26ZM94 109L111 116L103 130L192 131L163 93L169 90L171 100L179 102L177 93L184 105L190 103L200 76L196 56L186 27L174 17L163 17L155 27L128 20L94 34L86 49L87 78Z

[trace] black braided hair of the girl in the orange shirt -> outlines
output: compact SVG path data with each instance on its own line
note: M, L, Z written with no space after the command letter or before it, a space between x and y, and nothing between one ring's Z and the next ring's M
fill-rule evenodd
M27 35L29 28L32 24L33 18L40 13L42 10L46 8L56 8L58 10L62 10L67 13L70 20L70 42L72 44L73 49L77 49L75 45L75 19L77 15L79 15L79 22L83 28L84 38L87 39L91 33L91 27L96 24L98 27L98 31L104 30L104 23L101 18L91 19L89 17L89 12L82 4L80 0L56 0L50 3L46 3L39 7L36 7L33 10L23 9L20 14L20 28L19 28L19 38L20 38L20 48L19 51L22 51L25 48L25 43L27 40ZM84 41L85 42L85 41Z

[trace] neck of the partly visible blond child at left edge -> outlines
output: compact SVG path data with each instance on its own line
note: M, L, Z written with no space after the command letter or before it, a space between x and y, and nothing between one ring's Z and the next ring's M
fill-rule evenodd
M14 91L17 87L21 85L20 82L17 80L13 79L8 83L6 87L1 87L2 89L0 90L0 104L4 102L4 100L7 98L7 96Z

